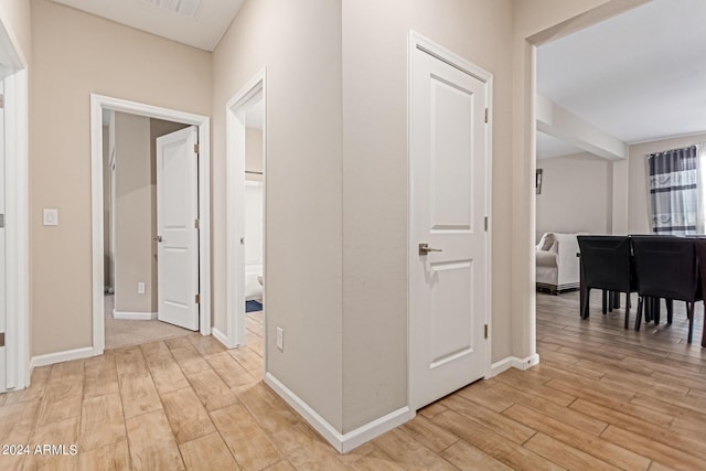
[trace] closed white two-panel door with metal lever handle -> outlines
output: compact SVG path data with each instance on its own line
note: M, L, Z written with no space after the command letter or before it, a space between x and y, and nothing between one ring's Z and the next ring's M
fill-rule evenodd
M419 408L488 370L490 77L413 54L410 402Z

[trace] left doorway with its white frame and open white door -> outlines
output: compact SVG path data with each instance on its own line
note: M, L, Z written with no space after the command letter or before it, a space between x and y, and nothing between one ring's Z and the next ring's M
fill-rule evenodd
M154 318L211 333L208 128L207 117L92 95L94 354L139 342L138 320L149 340L184 333ZM114 321L128 340L107 342Z

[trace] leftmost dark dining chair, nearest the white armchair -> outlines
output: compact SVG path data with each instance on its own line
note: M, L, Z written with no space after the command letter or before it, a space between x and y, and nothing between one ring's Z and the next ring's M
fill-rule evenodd
M607 292L627 295L625 329L630 325L630 293L637 291L634 270L630 258L630 238L628 236L577 236L581 251L584 280L584 312L588 318L589 295L592 288L603 290L603 314Z

